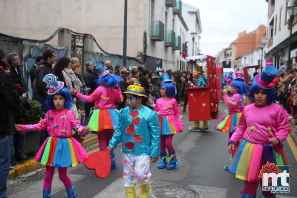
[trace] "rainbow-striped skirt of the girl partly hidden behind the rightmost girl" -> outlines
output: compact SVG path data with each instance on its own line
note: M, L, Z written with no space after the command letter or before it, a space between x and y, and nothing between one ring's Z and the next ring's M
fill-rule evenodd
M216 130L220 132L235 132L242 113L227 114L226 117L217 124Z

